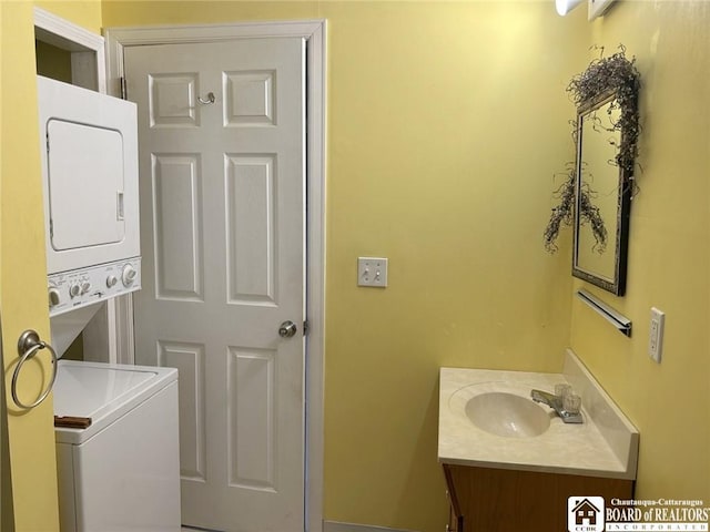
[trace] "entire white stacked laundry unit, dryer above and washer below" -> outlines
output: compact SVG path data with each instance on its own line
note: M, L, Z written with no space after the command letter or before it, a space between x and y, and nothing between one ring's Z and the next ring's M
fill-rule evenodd
M133 103L38 76L52 344L141 287ZM59 360L61 530L179 531L178 371Z

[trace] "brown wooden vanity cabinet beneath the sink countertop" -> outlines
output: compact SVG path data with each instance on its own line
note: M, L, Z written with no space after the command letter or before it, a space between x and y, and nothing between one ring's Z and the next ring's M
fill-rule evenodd
M565 532L569 497L633 497L632 480L447 463L444 474L452 532Z

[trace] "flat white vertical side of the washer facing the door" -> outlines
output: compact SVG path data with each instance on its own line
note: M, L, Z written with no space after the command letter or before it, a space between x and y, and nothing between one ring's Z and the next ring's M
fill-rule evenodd
M78 532L180 531L178 383L74 446Z

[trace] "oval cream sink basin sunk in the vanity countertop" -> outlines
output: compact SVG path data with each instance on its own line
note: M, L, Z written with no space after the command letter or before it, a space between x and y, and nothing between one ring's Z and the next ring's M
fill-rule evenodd
M466 416L479 429L498 436L529 438L550 428L550 416L531 399L489 391L466 402Z

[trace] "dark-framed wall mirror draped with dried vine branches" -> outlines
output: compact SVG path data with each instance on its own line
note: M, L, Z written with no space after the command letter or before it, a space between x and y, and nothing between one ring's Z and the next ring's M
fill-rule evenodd
M638 191L633 170L640 81L635 59L626 58L622 45L609 58L597 49L599 59L567 88L577 105L577 157L555 192L560 203L545 231L545 248L557 250L560 225L574 225L572 275L623 295L630 200ZM606 253L609 238L612 254Z

